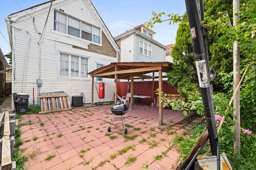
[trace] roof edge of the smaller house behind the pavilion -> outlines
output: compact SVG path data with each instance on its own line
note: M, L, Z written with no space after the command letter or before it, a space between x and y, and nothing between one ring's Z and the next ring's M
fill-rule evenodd
M140 31L138 31L135 28L129 29L128 31L125 31L124 33L121 33L120 35L115 37L115 40L117 41L117 40L119 40L121 38L128 37L131 34L138 34L141 37L144 37L145 39L148 39L148 41L151 41L152 43L154 43L156 45L159 45L160 47L162 47L164 49L168 49L165 45L163 45L163 44L159 43L158 41L156 41L156 40L154 40L154 39L144 35L143 33L141 33Z

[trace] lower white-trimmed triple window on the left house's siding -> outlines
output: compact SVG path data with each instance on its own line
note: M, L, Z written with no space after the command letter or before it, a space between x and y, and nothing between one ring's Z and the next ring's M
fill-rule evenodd
M88 58L60 53L60 77L87 78Z

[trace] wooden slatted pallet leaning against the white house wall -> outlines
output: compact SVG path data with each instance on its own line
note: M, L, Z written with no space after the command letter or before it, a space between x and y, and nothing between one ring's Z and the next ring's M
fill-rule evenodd
M62 93L45 93L40 94L37 98L41 99L41 110L39 114L54 112L54 111L64 111L70 110L70 101L68 94Z

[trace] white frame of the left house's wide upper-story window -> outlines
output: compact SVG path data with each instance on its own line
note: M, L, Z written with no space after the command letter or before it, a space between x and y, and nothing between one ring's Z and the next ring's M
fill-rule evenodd
M60 31L58 31L58 30L54 30L54 12L60 13L60 14L62 14L62 15L66 15L66 33L62 33L62 32L60 32ZM79 33L79 37L76 37L76 36L73 36L73 35L68 34L68 18L72 18L72 19L74 19L74 20L80 21L80 33ZM82 38L82 23L88 24L88 25L90 25L90 26L92 27L92 41ZM97 28L97 29L100 29L100 43L94 42L94 39L93 39L93 37L94 37L94 34L93 34L94 27ZM66 13L64 13L64 12L62 12L62 11L60 11L60 10L57 10L57 9L54 9L54 10L53 10L53 15L52 15L52 30L53 30L54 32L56 32L56 33L60 33L60 34L62 34L62 35L64 34L64 35L66 35L66 36L70 36L70 37L73 37L73 38L78 38L78 39L81 39L81 40L84 40L84 41L88 41L88 42L90 42L90 43L94 43L94 44L96 44L96 45L101 45L101 44L102 44L102 31L101 31L101 28L100 28L100 27L97 27L97 26L95 26L95 25L92 25L92 24L90 24L90 23L88 23L88 22L86 22L86 21L82 21L82 20L80 20L80 19L78 19L78 18L76 18L76 17L70 16L70 15L68 15L68 14L66 14ZM98 36L98 35L97 35L97 36Z

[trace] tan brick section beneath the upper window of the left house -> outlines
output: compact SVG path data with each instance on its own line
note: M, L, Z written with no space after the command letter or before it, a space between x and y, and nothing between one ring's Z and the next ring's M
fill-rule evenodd
M81 49L84 51L90 51L92 53L98 53L98 54L107 55L107 56L116 58L116 50L114 49L112 44L108 41L108 38L103 32L102 32L102 47L94 44L88 45L88 49L77 47L75 45L72 45L72 47L75 49ZM94 49L96 49L97 51ZM100 51L100 53L98 51Z

